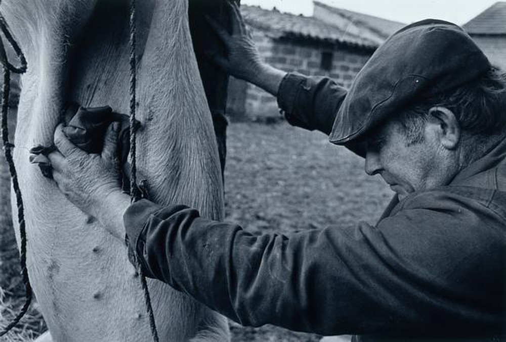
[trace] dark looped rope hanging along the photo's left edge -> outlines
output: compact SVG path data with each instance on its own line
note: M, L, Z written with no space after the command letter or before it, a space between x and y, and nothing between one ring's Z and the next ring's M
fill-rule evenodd
M26 289L26 300L25 304L21 308L19 314L14 318L14 320L7 325L1 332L0 337L7 334L12 328L14 328L21 318L26 314L28 308L30 307L30 303L32 301L32 289L30 286L30 280L28 278L28 270L26 269L26 227L25 227L25 219L24 219L24 207L23 207L23 198L21 197L21 190L19 188L18 175L16 172L16 167L14 165L14 160L12 156L12 148L14 148L14 144L9 141L9 129L7 126L7 115L9 112L9 94L11 92L11 72L22 74L26 71L27 64L26 59L21 52L21 48L14 40L13 36L9 31L9 26L7 25L4 17L0 14L0 29L2 30L4 36L7 38L14 51L16 52L17 57L20 61L20 67L15 67L9 63L7 60L7 53L5 51L4 43L2 39L0 39L0 63L2 63L2 70L4 72L4 85L2 87L2 141L4 144L4 154L7 163L9 164L9 172L11 173L12 186L14 189L14 193L16 194L16 205L18 207L18 223L19 223L19 232L21 236L21 253L20 253L20 262L21 262L21 276L23 279L23 283Z

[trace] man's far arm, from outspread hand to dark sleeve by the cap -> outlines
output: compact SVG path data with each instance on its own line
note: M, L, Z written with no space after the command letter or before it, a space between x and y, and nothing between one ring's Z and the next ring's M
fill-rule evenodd
M330 78L287 73L263 62L239 7L235 3L227 6L232 32L207 18L210 27L225 45L226 55L208 51L209 57L228 74L277 96L278 105L290 124L330 134L346 89Z

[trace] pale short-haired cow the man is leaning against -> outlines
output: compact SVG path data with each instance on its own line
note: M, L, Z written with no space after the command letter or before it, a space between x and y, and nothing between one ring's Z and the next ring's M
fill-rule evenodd
M192 30L203 27L206 9L219 13L224 5L200 4L204 10L190 11ZM214 129L223 132L224 125L214 126L210 112L220 114L225 106L226 77L206 73L205 62L197 65L194 51L202 55L203 48L192 47L189 6L188 0L137 2L137 168L152 201L187 204L221 220L222 165ZM74 207L29 163L28 152L53 143L71 101L128 113L129 0L3 0L0 10L28 63L14 160L25 203L28 274L51 332L42 338L152 340L124 232ZM17 225L16 238L19 244ZM223 316L161 282L148 279L148 287L160 340L230 339Z

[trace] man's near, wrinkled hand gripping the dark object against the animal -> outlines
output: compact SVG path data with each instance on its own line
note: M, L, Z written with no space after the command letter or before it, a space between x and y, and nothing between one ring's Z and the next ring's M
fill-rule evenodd
M48 155L53 178L70 202L83 212L99 218L110 199L120 198L120 170L117 156L119 124L109 125L102 153L88 154L65 136L60 124L55 130L58 151ZM127 196L128 198L128 196Z

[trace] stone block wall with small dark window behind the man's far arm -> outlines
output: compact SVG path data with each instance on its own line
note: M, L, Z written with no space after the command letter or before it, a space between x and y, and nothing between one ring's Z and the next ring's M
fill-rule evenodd
M329 76L349 87L355 75L372 52L363 52L341 44L318 43L309 40L272 39L267 32L251 30L258 51L265 62L284 71L297 71L310 76ZM328 69L322 68L326 54ZM240 93L245 91L241 101ZM228 112L232 120L275 121L280 119L274 96L252 84L232 79L229 85Z

